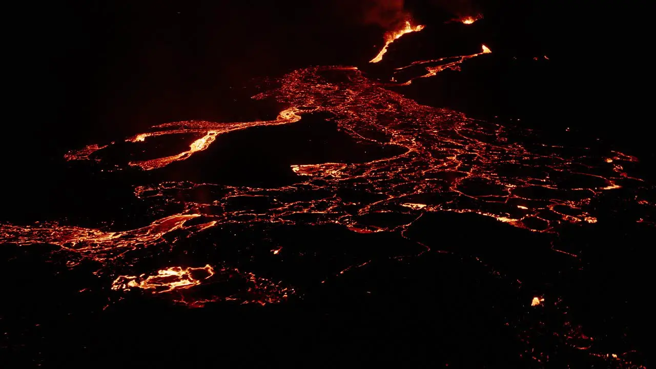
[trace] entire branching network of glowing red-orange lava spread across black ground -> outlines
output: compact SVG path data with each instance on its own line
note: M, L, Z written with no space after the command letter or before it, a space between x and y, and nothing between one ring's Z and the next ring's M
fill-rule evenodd
M390 40L394 37L385 47ZM148 213L143 224L5 223L0 242L22 250L49 246L68 270L92 274L94 282L81 290L102 295L100 308L109 310L130 299L185 309L221 304L270 309L302 304L318 288L366 279L362 273L390 263L407 268L439 259L434 269L468 263L471 273L513 296L501 325L510 327L523 359L541 366L571 352L586 363L634 366L630 347L615 348L601 334L584 334L577 316L567 314L567 298L545 287L550 277L538 276L530 265L557 258L565 269L578 270L582 249L567 234L611 221L605 202L631 207L630 222L653 227L653 187L632 173L638 158L551 143L529 129L468 118L392 91L487 54L483 47L478 54L414 62L393 70L386 83L356 67L295 70L253 97L282 106L277 118L165 123L125 141L72 150L66 154L72 165L138 178L132 190L134 202ZM407 75L400 78L401 72ZM353 142L384 153L352 162L291 163L291 179L281 185L171 176L198 160L207 163L215 146L239 132L302 123L333 124ZM161 154L167 139L178 142L179 150ZM495 227L510 238L495 238L489 230ZM312 232L319 229L334 237L318 240ZM462 238L475 240L478 248L459 246ZM504 251L524 265L522 272L490 256L513 238L527 242L520 251ZM348 242L359 246L347 248ZM522 252L531 248L538 256L522 261Z

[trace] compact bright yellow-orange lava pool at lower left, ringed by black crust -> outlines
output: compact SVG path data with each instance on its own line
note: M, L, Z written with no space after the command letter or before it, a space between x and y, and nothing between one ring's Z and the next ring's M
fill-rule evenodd
M199 277L201 274L204 274L202 278ZM127 291L131 288L140 288L153 290L152 292L155 293L171 292L198 286L201 284L201 279L207 279L213 275L214 269L209 264L200 268L170 267L161 269L157 271L157 274L146 278L143 278L143 274L141 276L118 276L112 283L112 290Z

